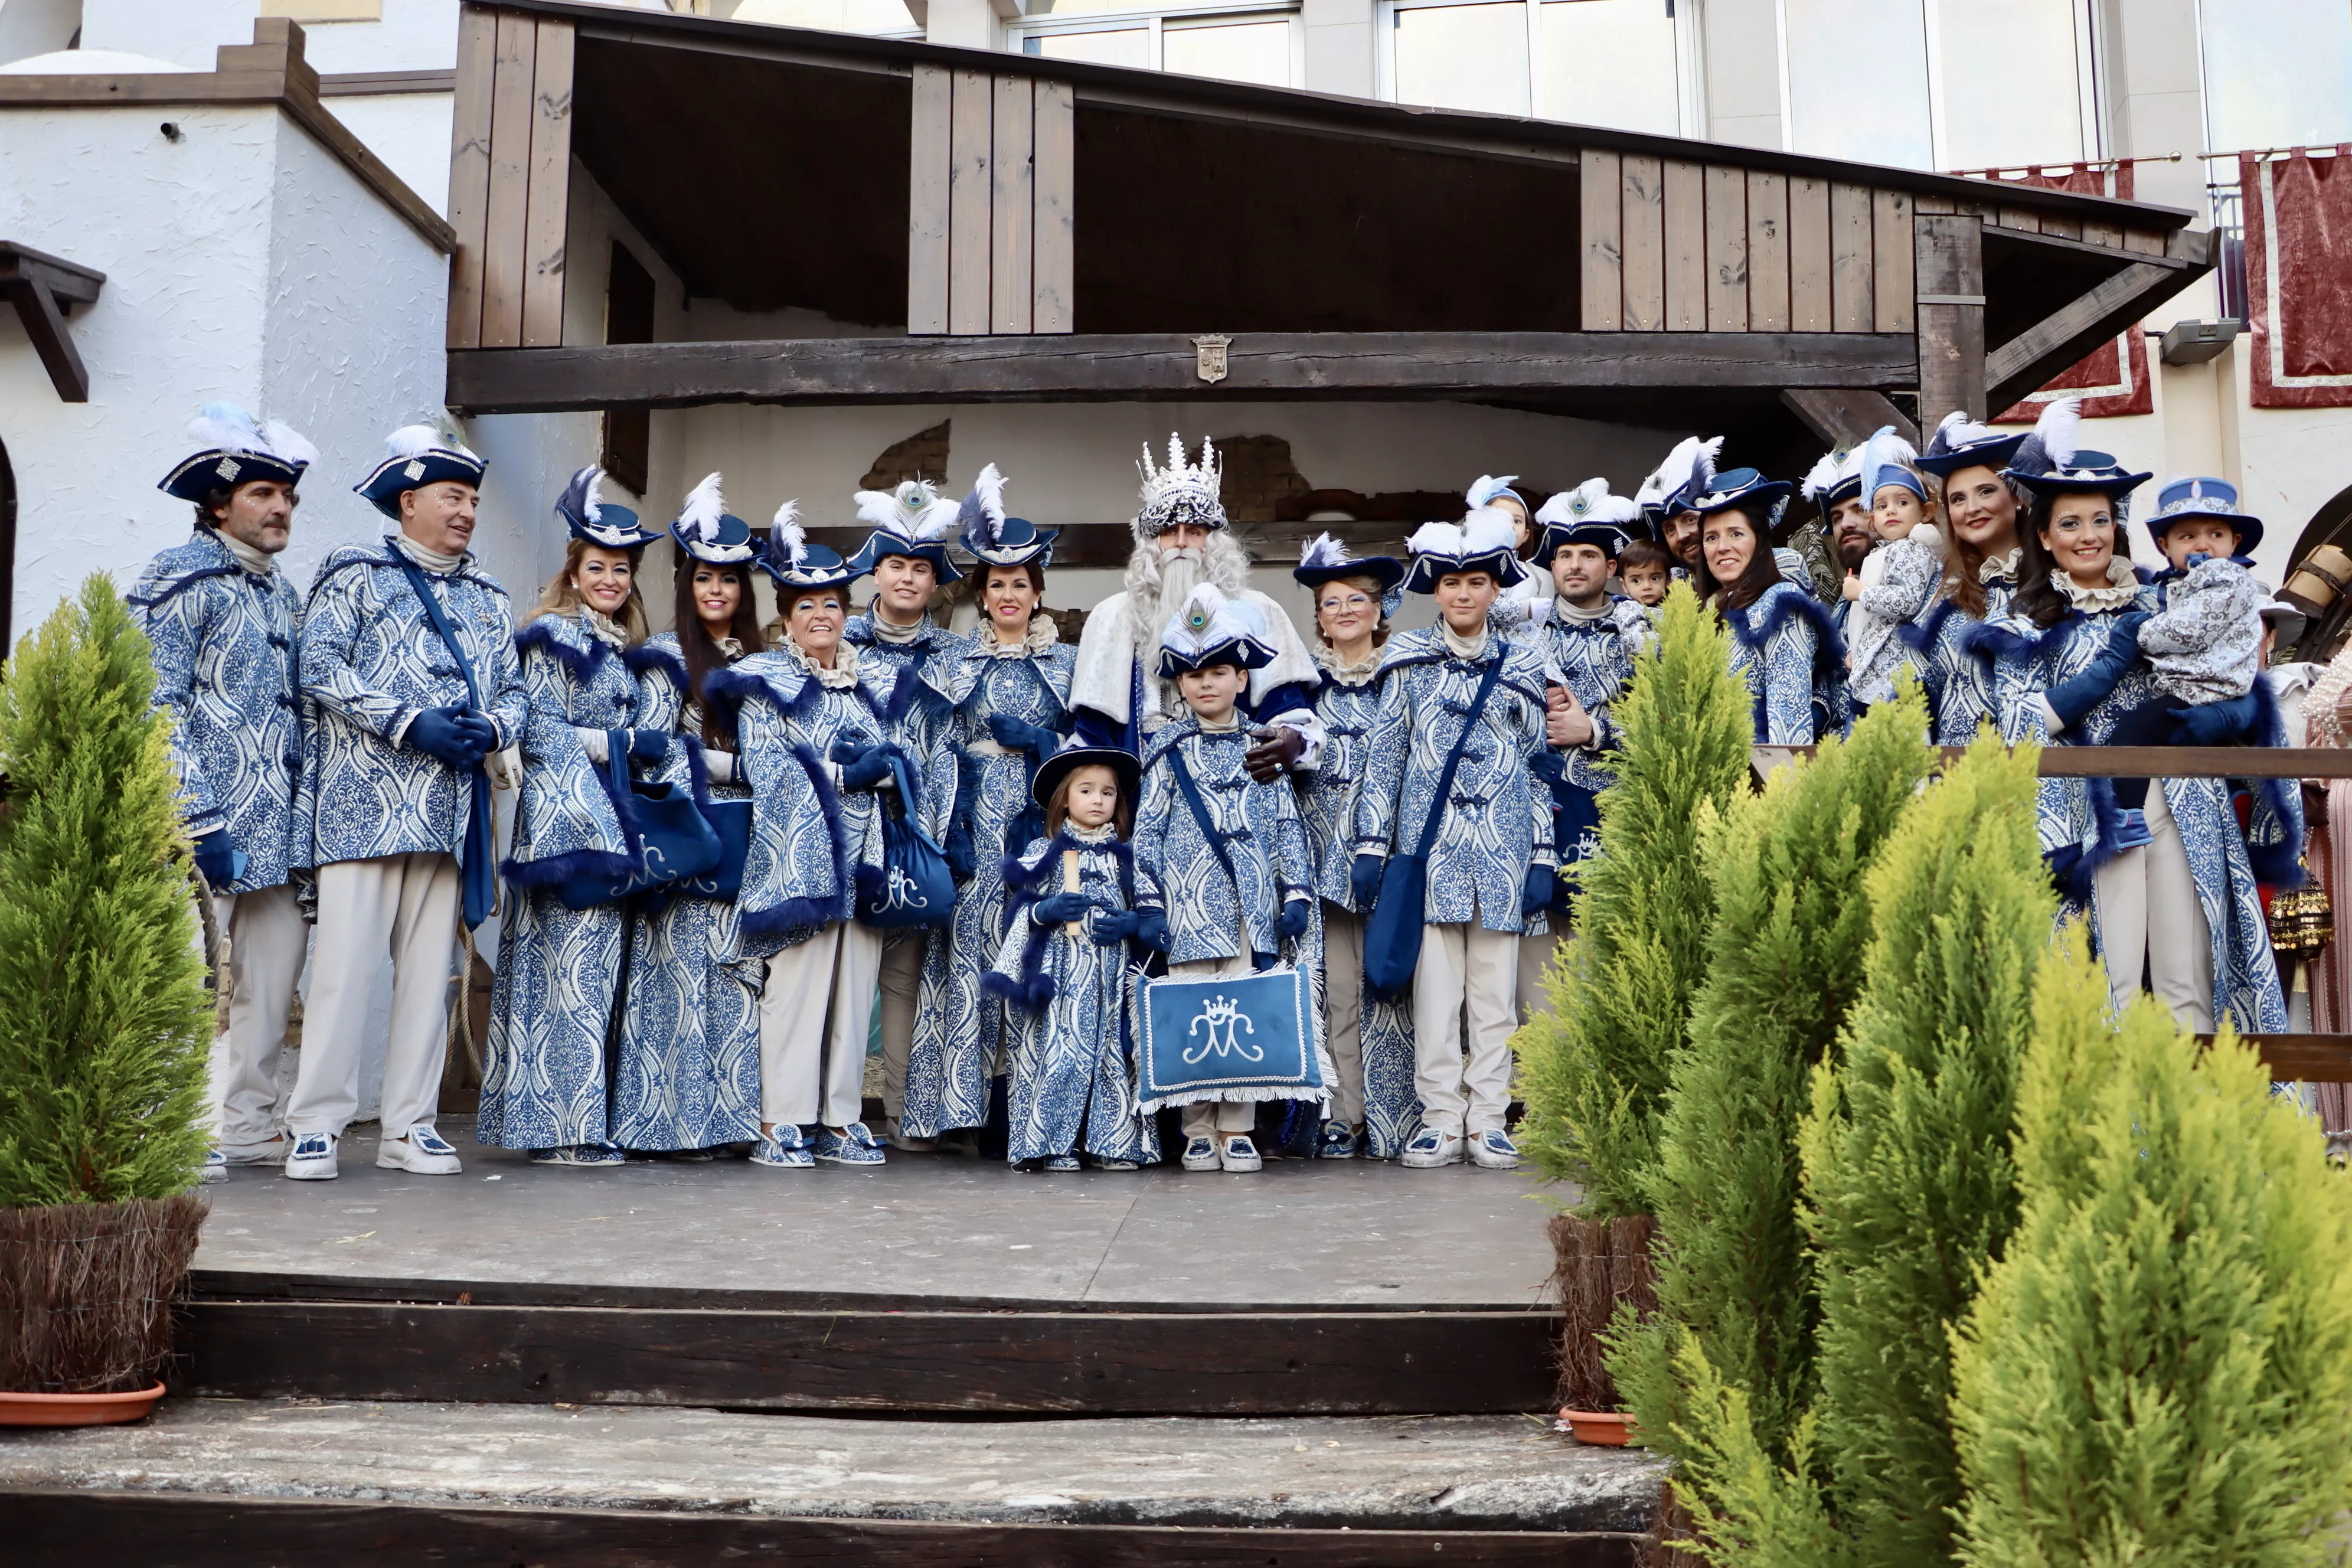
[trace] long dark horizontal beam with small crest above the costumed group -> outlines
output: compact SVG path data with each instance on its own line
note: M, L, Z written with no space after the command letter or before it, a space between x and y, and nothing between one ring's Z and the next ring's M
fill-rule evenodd
M1907 388L1900 334L1242 334L1209 386L1192 339L938 336L644 343L449 355L449 404L548 414L703 402L1054 402L1127 397L1465 397L1562 388Z

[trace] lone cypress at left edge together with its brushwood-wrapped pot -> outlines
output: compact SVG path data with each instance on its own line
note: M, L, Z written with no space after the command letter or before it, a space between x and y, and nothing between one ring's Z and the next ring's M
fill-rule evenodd
M0 675L0 1422L162 1396L212 1011L148 642L103 574Z

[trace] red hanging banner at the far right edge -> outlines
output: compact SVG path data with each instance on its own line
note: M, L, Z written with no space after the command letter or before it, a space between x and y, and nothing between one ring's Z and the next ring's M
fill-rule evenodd
M2239 153L2253 407L2352 407L2352 143Z

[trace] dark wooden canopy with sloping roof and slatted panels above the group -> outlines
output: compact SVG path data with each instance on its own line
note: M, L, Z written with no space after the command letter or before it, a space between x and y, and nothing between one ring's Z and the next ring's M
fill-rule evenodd
M684 280L873 336L562 343L579 158ZM2004 407L2209 266L2190 214L1028 54L468 0L449 402ZM1230 339L1223 378L1214 346ZM1783 416L1785 418L1785 416Z

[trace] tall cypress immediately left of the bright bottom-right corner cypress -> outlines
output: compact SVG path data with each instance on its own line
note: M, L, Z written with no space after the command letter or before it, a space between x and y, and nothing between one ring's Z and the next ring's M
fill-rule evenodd
M1719 1563L1917 1568L1952 1554L1947 1331L2016 1225L2011 1124L2056 914L2037 752L1980 738L1865 877L1875 936L1842 1063L1799 1128L1818 1392L1780 1460L1745 1389L1677 1352L1700 1549Z

